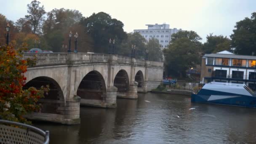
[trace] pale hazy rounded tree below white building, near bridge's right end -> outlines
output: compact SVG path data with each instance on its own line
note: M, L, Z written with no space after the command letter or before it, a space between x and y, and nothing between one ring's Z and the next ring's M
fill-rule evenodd
M162 59L159 40L155 38L149 39L146 48L149 50L149 61L160 61Z

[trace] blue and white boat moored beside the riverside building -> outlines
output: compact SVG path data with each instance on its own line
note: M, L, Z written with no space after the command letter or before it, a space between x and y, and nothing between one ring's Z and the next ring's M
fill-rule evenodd
M256 94L244 84L211 82L192 94L191 102L256 107Z

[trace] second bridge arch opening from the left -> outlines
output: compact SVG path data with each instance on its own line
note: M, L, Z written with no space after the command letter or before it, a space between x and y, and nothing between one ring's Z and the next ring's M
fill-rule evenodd
M88 72L77 88L77 96L81 97L81 105L93 106L93 101L103 101L106 93L105 80L96 70Z

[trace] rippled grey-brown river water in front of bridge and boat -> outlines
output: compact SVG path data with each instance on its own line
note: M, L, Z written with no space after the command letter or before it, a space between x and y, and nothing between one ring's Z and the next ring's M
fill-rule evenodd
M115 109L81 107L80 118L35 126L50 131L50 144L256 144L256 109L194 104L189 96L139 93L117 99Z

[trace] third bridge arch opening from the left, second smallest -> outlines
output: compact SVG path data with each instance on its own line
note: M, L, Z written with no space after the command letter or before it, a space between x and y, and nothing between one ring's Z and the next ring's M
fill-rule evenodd
M129 90L129 76L124 69L115 75L114 86L117 87L117 96L124 95Z

